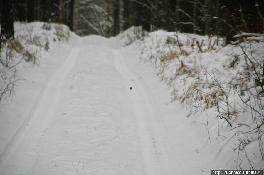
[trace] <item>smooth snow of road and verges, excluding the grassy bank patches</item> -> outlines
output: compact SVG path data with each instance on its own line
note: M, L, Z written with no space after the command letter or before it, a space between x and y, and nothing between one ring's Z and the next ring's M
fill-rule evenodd
M238 155L233 149L234 131L226 122L215 117L207 122L207 115L216 115L214 108L194 113L179 101L170 103L175 85L160 81L162 70L144 58L153 38L158 41L166 32L126 46L130 31L109 39L79 37L59 25L70 36L60 38L58 24L51 30L42 29L41 22L26 25L15 23L16 33L44 35L41 41L48 39L50 49L38 50L38 65L21 61L15 67L15 93L1 102L0 174L211 174L211 169L264 168L258 140L244 148L249 163L244 150ZM223 52L201 53L205 60L199 64L221 69Z

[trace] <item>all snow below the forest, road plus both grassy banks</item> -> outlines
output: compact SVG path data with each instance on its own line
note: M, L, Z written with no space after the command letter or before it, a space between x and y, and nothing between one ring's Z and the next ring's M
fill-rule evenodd
M262 80L254 76L263 42L224 46L214 36L138 27L109 39L53 23L14 27L23 46L14 58L23 59L0 67L19 79L0 104L2 174L263 168Z

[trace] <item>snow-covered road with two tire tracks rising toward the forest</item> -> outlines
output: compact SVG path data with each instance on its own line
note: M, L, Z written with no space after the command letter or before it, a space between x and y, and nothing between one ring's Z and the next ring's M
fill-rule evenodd
M78 37L63 64L46 72L1 152L0 174L184 174L134 52L116 38Z

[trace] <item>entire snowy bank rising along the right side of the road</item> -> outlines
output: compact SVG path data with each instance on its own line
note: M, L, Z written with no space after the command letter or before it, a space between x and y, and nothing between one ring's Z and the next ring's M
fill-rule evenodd
M168 103L186 107L186 117L197 130L206 128L203 137L210 143L219 142L215 151L228 154L231 167L263 168L263 34L242 33L233 37L236 44L226 45L216 36L140 31L127 31L126 44L137 40L141 60L171 90Z

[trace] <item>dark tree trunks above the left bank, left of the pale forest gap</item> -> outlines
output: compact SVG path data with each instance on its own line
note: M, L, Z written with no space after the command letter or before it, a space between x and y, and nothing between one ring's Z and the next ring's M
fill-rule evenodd
M73 30L74 0L0 0L1 36L14 35L16 20L60 22Z

